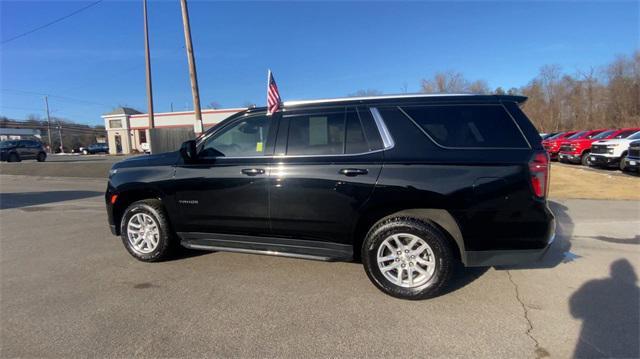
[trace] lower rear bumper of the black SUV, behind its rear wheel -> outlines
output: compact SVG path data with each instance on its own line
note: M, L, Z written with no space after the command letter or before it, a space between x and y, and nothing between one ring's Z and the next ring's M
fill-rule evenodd
M541 249L466 251L463 261L467 267L491 267L529 264L542 260L556 238L556 221L551 220L547 245Z

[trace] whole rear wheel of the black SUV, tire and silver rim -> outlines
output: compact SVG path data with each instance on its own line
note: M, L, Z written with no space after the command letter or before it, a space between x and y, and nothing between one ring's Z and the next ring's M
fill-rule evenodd
M402 299L437 296L457 262L447 236L431 223L388 217L367 234L362 261L378 289Z

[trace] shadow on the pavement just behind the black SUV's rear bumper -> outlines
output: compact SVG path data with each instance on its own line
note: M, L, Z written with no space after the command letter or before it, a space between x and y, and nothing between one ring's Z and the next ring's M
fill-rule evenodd
M555 201L549 201L549 208L556 217L556 238L544 257L533 263L497 266L497 270L553 268L560 263L570 262L576 258L571 253L574 223L567 213L568 208Z

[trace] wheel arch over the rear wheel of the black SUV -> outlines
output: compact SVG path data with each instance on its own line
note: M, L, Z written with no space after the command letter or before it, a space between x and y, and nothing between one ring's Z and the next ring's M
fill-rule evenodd
M466 263L465 245L460 227L455 218L446 209L441 208L378 208L369 210L358 219L355 227L353 253L356 258L359 259L360 247L369 229L379 220L389 216L412 217L436 225L455 245L455 249L457 249L455 253L458 259Z

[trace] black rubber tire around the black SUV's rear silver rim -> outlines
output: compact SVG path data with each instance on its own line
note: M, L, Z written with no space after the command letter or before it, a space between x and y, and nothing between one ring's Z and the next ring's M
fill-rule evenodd
M410 234L424 240L435 257L435 270L423 284L402 287L387 279L378 267L378 248L393 234ZM451 241L433 224L412 217L390 216L376 223L362 244L362 263L373 284L381 291L401 299L427 299L439 295L450 281L458 263Z

